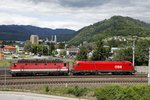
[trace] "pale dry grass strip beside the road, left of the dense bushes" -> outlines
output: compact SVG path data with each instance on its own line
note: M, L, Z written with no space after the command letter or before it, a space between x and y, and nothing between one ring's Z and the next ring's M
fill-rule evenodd
M30 87L30 86L29 86ZM38 94L56 95L72 98L84 98L93 100L94 91L90 88L80 87L80 86L36 86L36 87L19 87L19 88L0 88L0 91L15 91L15 92L31 92Z

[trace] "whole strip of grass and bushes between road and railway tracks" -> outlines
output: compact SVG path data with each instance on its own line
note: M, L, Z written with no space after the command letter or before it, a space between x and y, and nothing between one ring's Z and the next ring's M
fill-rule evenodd
M48 86L43 85L36 88L22 89L0 89L3 91L34 92L47 95L84 98L88 100L149 100L149 85L107 85L99 87L81 86Z

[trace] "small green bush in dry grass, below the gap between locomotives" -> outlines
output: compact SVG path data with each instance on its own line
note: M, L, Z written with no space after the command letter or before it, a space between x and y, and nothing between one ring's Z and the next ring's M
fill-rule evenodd
M86 94L86 92L87 92L87 88L80 88L78 86L75 86L73 88L68 88L68 90L67 90L68 94L73 94L76 97L83 96Z

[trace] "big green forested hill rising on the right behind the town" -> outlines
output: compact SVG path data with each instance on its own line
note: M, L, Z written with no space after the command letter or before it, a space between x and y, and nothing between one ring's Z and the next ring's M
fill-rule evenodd
M141 37L150 36L150 24L130 17L113 16L110 19L105 19L80 29L69 41L69 44L78 45L84 41L95 41L98 38L134 35Z

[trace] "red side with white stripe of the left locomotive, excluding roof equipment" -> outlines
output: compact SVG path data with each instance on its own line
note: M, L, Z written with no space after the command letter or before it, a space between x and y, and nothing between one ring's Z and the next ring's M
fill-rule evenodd
M11 66L14 74L68 74L68 63L16 63Z

